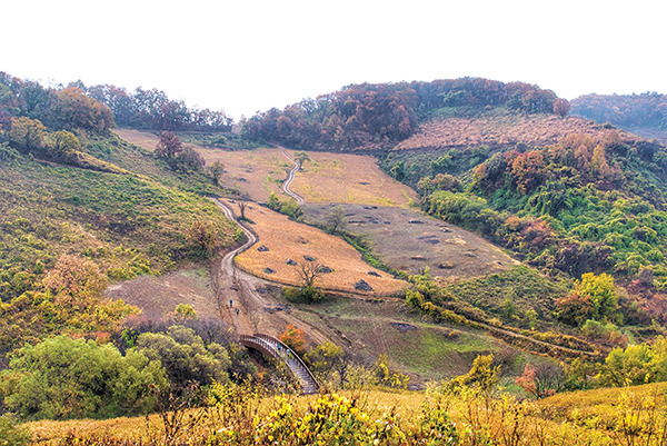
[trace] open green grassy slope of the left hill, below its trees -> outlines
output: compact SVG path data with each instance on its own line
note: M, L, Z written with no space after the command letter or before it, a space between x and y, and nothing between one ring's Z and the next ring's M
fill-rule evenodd
M97 137L93 145L92 152L107 152L108 159L122 160L127 168L160 176L155 161L117 139ZM0 162L3 343L16 346L39 338L41 331L69 329L67 320L61 320L61 327L34 325L26 319L28 314L37 317L33 308L18 307L21 299L46 289L44 278L59 268L63 256L99 270L104 280L119 280L161 274L182 259L200 258L200 246L188 239L195 221L210 224L219 246L229 246L238 237L236 226L209 200L182 190L192 184L179 182L176 177L162 178L181 188L143 175L62 166L21 156L11 148L3 150L8 153ZM26 333L7 337L10 328L14 331L11 324L23 326ZM9 345L2 346L7 348Z

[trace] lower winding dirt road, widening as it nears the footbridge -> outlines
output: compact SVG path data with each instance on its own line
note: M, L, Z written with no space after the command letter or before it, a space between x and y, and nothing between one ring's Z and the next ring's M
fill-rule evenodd
M228 204L220 199L212 200L227 218L236 221L235 214ZM241 222L238 225L246 234L248 241L227 252L212 275L220 317L230 323L237 336L255 333L279 336L288 324L293 324L302 328L306 337L316 344L328 340L328 337L318 328L292 315L291 308L279 305L269 294L261 293L267 285L271 285L270 281L236 267L233 258L259 239L245 225Z

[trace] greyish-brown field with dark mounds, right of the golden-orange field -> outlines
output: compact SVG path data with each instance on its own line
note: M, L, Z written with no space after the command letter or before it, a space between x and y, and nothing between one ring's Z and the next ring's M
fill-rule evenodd
M371 242L372 251L395 269L418 274L429 267L434 276L477 277L518 265L500 248L481 237L427 217L414 209L344 205L347 230ZM329 205L306 205L306 217L323 222Z

